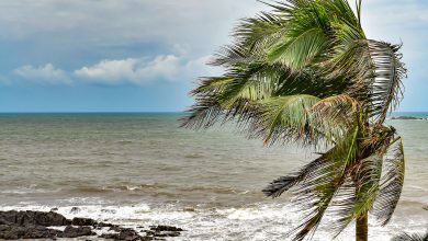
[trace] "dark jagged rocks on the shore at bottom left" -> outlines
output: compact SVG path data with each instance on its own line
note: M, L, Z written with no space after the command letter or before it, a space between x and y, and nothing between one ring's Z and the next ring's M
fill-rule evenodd
M0 239L60 239L149 241L178 237L184 231L171 226L138 227L140 230L99 222L90 218L67 219L54 211L0 211Z

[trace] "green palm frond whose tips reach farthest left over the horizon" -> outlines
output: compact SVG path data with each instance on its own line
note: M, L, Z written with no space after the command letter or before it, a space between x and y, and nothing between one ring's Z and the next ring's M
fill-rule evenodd
M207 128L217 120L233 119L256 112L255 101L268 97L278 88L279 76L286 68L252 64L245 69L230 69L223 77L204 78L191 94L196 103L182 118L188 128Z

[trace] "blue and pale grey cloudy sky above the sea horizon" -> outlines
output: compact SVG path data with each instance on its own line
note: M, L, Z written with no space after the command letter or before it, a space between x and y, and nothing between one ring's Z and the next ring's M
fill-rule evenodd
M351 0L352 1L352 0ZM428 1L363 0L369 38L403 43L398 111L428 111ZM256 0L1 0L0 112L181 112Z

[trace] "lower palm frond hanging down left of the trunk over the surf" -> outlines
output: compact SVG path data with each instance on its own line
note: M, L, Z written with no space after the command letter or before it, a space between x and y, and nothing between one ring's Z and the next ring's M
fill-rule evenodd
M293 203L305 210L306 216L292 231L294 240L303 240L316 230L331 200L347 182L357 158L359 129L354 125L329 151L301 171L280 177L264 188L267 196L278 197L293 187Z

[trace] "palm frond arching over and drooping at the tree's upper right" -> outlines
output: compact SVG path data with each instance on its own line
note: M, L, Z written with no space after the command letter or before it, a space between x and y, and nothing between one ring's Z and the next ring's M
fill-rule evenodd
M401 45L361 39L351 28L341 32L341 44L322 66L327 77L343 77L352 82L346 93L365 103L371 116L383 123L403 97L402 79L406 77L406 69L401 61Z

